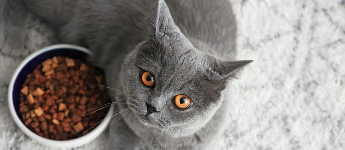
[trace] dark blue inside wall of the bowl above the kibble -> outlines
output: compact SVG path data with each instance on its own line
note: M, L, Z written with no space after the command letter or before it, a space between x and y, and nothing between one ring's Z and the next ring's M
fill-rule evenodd
M12 93L12 99L13 99L13 105L14 109L16 110L17 116L21 119L21 115L19 113L19 94L20 90L22 89L22 85L26 79L26 76L29 73L32 73L33 69L36 68L37 65L42 63L43 61L47 60L48 58L52 58L54 56L64 56L64 57L70 57L74 59L80 59L82 61L86 61L88 57L88 53L79 51L77 49L72 48L58 48L58 49L52 49L50 51L43 52L36 57L32 58L19 72L18 76L16 77L16 80L13 84L13 93Z

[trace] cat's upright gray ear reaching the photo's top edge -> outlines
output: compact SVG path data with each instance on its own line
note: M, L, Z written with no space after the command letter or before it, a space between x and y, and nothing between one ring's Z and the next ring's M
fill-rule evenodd
M160 37L169 32L180 31L180 29L175 25L174 20L171 17L169 8L164 0L158 1L155 31L156 37Z

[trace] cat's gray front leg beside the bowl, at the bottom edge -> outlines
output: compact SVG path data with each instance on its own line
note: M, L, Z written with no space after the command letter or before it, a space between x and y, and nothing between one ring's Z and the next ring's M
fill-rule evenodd
M137 136L121 118L110 126L107 150L132 150L137 143Z

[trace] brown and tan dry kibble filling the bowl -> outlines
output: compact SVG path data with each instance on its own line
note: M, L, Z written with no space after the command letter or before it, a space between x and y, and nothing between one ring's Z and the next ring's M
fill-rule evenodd
M86 134L108 112L108 108L93 112L109 103L103 83L100 71L81 60L55 56L42 62L27 75L20 91L24 124L53 140Z

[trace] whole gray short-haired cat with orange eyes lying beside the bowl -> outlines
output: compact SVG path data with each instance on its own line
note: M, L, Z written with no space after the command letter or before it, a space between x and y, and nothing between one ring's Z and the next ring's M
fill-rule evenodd
M224 89L252 62L235 61L228 0L23 1L105 70L119 112L107 149L214 148L231 120Z

